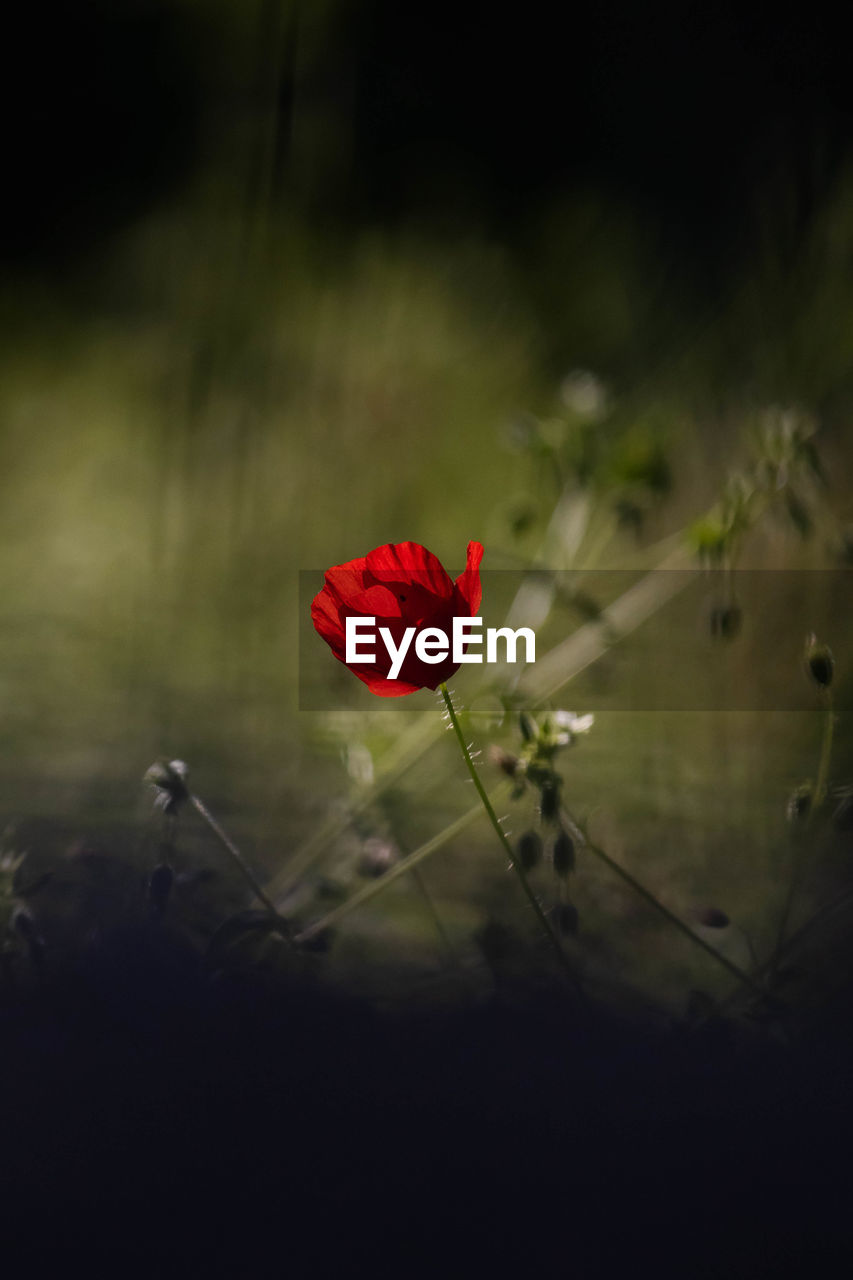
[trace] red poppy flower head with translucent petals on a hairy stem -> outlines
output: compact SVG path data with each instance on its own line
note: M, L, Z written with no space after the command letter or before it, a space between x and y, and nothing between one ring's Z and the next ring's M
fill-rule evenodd
M371 692L400 698L418 689L438 689L459 663L452 652L435 660L441 645L434 640L432 649L421 648L423 654L433 655L433 662L426 662L412 641L428 627L450 637L453 618L476 614L483 596L482 559L482 545L469 543L467 566L453 582L441 561L418 543L377 547L369 556L327 571L325 586L311 604L311 621L334 657ZM356 646L359 657L369 660L347 662L347 618L374 620L369 630L366 623L361 626ZM400 654L393 678L394 663L383 632Z

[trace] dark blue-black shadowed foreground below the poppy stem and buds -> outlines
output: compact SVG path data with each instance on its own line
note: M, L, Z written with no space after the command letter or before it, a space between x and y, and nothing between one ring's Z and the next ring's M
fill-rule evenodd
M152 923L6 993L0 1043L10 1275L817 1275L849 1240L849 1016L382 1015L210 982Z

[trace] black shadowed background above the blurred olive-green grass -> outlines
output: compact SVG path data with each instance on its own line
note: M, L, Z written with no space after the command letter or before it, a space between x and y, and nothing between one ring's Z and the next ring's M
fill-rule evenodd
M50 0L17 10L4 46L6 264L73 257L187 179L211 118L273 105L274 188L329 224L517 237L589 186L646 211L707 282L749 252L758 193L795 242L853 142L822 5ZM328 134L304 182L295 109Z

